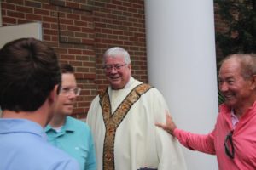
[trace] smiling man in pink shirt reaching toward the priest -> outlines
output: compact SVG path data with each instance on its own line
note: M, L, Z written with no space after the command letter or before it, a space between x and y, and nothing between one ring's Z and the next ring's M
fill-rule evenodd
M178 129L166 114L166 124L156 123L190 150L216 155L218 168L256 169L256 55L226 57L218 74L225 102L219 106L217 122L206 135Z

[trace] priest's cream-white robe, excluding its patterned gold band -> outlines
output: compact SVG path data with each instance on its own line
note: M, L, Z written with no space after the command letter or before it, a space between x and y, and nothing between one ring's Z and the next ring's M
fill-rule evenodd
M113 90L108 87L112 116L126 96L139 84L142 82L131 77L123 89ZM145 167L158 170L186 169L177 139L154 125L155 122L166 122L166 110L168 111L166 101L156 88L148 89L131 105L124 118L116 124L113 141L109 141L113 143L114 157L110 156L108 161L113 161L115 170L137 170ZM99 95L90 105L86 122L94 136L97 169L102 170L103 157L108 154L105 151L103 156L104 139L108 139L108 136Z

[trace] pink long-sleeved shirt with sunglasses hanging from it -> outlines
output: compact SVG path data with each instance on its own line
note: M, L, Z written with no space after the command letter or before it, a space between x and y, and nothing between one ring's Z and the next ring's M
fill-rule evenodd
M217 122L211 133L206 135L189 133L175 129L174 135L179 142L190 150L198 150L216 155L220 170L255 170L256 169L256 104L241 116L233 132L235 158L225 154L224 139L233 129L230 108L220 105Z

